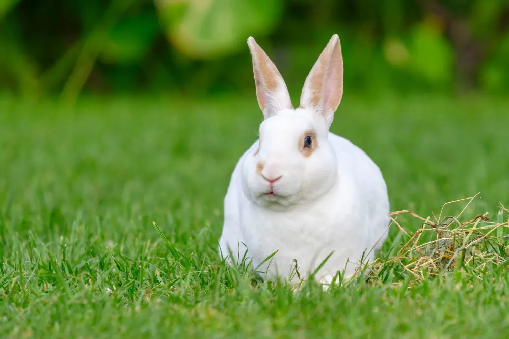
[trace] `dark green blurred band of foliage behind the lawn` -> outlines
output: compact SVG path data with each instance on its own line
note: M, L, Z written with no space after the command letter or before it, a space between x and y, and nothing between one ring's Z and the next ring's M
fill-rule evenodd
M299 93L334 33L349 91L509 89L509 0L0 0L0 86L253 91L252 35Z

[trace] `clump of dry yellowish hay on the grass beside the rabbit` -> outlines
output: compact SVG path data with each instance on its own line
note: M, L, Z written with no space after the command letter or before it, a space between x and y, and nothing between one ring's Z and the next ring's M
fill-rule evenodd
M502 219L503 211L509 211L503 205L497 222L491 222L487 213L461 221L463 212L477 197L478 194L444 204L440 215L435 218L436 223L430 217L423 218L408 210L390 213L393 223L409 240L394 257L372 263L370 277L379 277L387 267L393 267L395 271L407 272L417 281L457 269L482 279L487 268L509 265L509 227L507 220L503 222ZM468 203L459 215L442 219L446 205L465 200ZM422 220L422 227L413 235L408 234L397 220L397 216L404 213Z

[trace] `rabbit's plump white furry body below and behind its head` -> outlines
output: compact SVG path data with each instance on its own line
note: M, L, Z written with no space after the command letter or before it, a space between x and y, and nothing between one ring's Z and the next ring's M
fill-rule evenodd
M333 252L316 275L317 280L327 284L336 271L344 270L345 276L349 276L361 259L365 263L373 259L385 240L389 222L382 173L349 140L330 132L328 140L337 159L336 184L317 200L283 211L259 206L244 194L242 163L256 151L258 141L243 154L225 197L220 239L224 256L230 248L232 259L239 262L248 249L246 257L256 267L277 250L258 270L267 272L268 278L277 275L288 278L296 262L299 274L313 272ZM347 262L350 264L346 265ZM293 279L296 278L297 274L293 274Z

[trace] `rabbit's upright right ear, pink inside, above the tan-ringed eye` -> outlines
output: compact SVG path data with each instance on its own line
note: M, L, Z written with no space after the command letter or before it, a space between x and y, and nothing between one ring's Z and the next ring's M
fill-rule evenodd
M309 73L301 94L301 107L324 116L330 127L343 95L343 57L334 34Z

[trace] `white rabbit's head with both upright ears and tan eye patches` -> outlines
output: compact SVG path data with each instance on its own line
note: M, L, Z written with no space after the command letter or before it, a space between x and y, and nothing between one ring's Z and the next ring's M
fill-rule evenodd
M258 104L264 120L259 144L244 160L243 190L261 206L310 202L334 187L337 160L328 142L343 93L343 59L334 35L309 73L300 106L265 52L249 37Z

